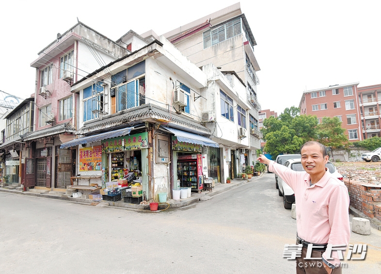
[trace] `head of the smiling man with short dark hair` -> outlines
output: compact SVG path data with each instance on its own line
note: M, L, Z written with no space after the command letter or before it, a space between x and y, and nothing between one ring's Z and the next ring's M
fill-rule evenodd
M328 155L323 157L319 145L314 144L303 146L301 154L302 166L309 175L325 172L325 164L328 162Z

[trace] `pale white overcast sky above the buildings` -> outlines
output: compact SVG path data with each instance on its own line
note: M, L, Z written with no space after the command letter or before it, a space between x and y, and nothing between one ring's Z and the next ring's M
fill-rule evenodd
M13 0L0 16L0 90L34 93L37 53L81 22L117 40L129 30L158 35L234 3L219 1ZM262 110L299 106L302 92L381 83L380 0L241 0L257 46Z

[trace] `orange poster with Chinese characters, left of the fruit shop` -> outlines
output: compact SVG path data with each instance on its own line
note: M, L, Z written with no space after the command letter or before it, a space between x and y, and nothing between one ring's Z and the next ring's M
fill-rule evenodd
M79 171L102 170L102 146L79 148Z

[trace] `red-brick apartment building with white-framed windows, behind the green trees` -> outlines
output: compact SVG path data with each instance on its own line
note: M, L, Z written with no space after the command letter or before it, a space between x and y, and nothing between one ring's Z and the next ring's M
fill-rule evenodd
M318 123L321 123L322 117L336 116L339 118L340 121L342 121L341 126L347 130L349 141L354 142L363 140L364 135L361 134L363 130L360 121L365 121L365 117L363 119L363 117L360 116L361 108L359 104L359 91L357 88L358 84L359 82L344 85L333 85L325 88L307 90L303 92L301 101L299 103L301 114L316 115L318 118ZM374 94L374 89L373 91L369 91L369 93ZM370 100L373 100L372 98L377 98L377 92L375 94L376 97L370 97ZM368 104L371 104L370 108L368 107ZM370 115L369 113L371 113L372 116L369 117L372 119L374 118L372 120L372 123L374 123L373 126L376 126L376 120L379 123L378 125L380 125L378 103L375 103L373 101L369 103L367 102L366 107L364 107L364 104L362 104L362 113L368 115ZM377 119L375 119L375 117ZM369 120L370 123L370 119L367 120ZM380 129L378 130L378 132L380 132Z

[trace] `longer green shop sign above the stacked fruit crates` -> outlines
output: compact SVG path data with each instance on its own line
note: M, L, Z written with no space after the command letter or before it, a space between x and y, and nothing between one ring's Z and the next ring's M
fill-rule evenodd
M102 140L102 152L118 152L148 147L147 132Z

